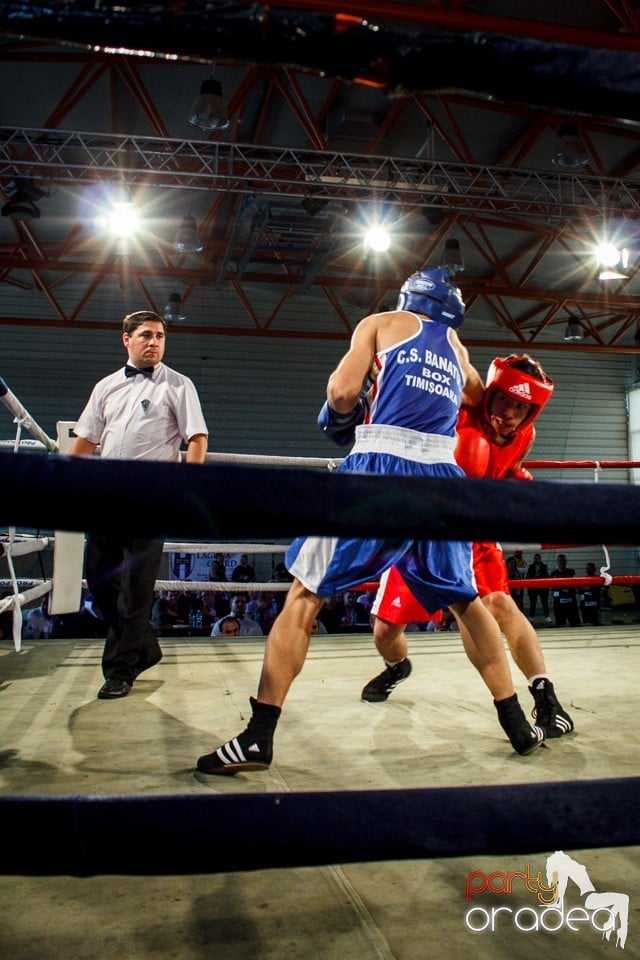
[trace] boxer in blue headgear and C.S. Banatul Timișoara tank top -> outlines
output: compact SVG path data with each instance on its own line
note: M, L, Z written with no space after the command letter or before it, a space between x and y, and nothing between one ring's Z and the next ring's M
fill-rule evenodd
M321 430L341 446L355 443L341 471L387 476L463 477L455 462L455 429L464 400L481 402L483 383L456 328L464 302L446 267L413 274L395 310L371 314L354 330L329 377ZM395 565L430 612L449 607L467 628L467 654L498 707L514 749L526 754L543 733L527 721L513 688L500 630L478 597L468 542L301 537L286 554L294 580L265 647L258 695L247 728L198 770L235 774L265 770L289 688L306 659L314 618L325 600L378 578Z

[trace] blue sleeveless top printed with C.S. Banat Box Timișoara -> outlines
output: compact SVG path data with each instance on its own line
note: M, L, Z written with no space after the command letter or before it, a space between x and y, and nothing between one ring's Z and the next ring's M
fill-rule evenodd
M415 316L415 315L414 315ZM416 317L420 329L376 354L367 423L453 437L463 377L449 327Z

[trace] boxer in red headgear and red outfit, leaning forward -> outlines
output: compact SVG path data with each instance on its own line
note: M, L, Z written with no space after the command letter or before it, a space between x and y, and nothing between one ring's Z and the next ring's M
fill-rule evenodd
M463 406L457 425L455 459L468 477L532 480L522 461L535 440L534 421L553 393L553 382L539 363L526 355L497 358L487 375L478 407ZM527 678L534 699L533 716L546 738L573 730L573 721L559 703L546 670L538 635L509 592L507 569L498 543L474 543L473 568L478 593L503 631L511 655ZM385 669L362 691L362 699L386 700L411 673L404 625L430 619L395 568L380 580L371 608L374 641ZM469 659L475 664L472 638L460 631Z

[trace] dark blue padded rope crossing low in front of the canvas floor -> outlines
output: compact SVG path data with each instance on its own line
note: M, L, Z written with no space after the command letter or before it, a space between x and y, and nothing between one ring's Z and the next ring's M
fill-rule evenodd
M216 796L2 797L17 876L161 876L640 844L640 778ZM135 843L123 846L123 836Z

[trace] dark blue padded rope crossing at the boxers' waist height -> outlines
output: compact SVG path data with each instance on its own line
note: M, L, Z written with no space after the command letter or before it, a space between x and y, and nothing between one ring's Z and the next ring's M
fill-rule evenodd
M633 545L640 488L0 452L2 525L114 533L128 531L131 515L139 536L174 539L375 532L400 540Z

